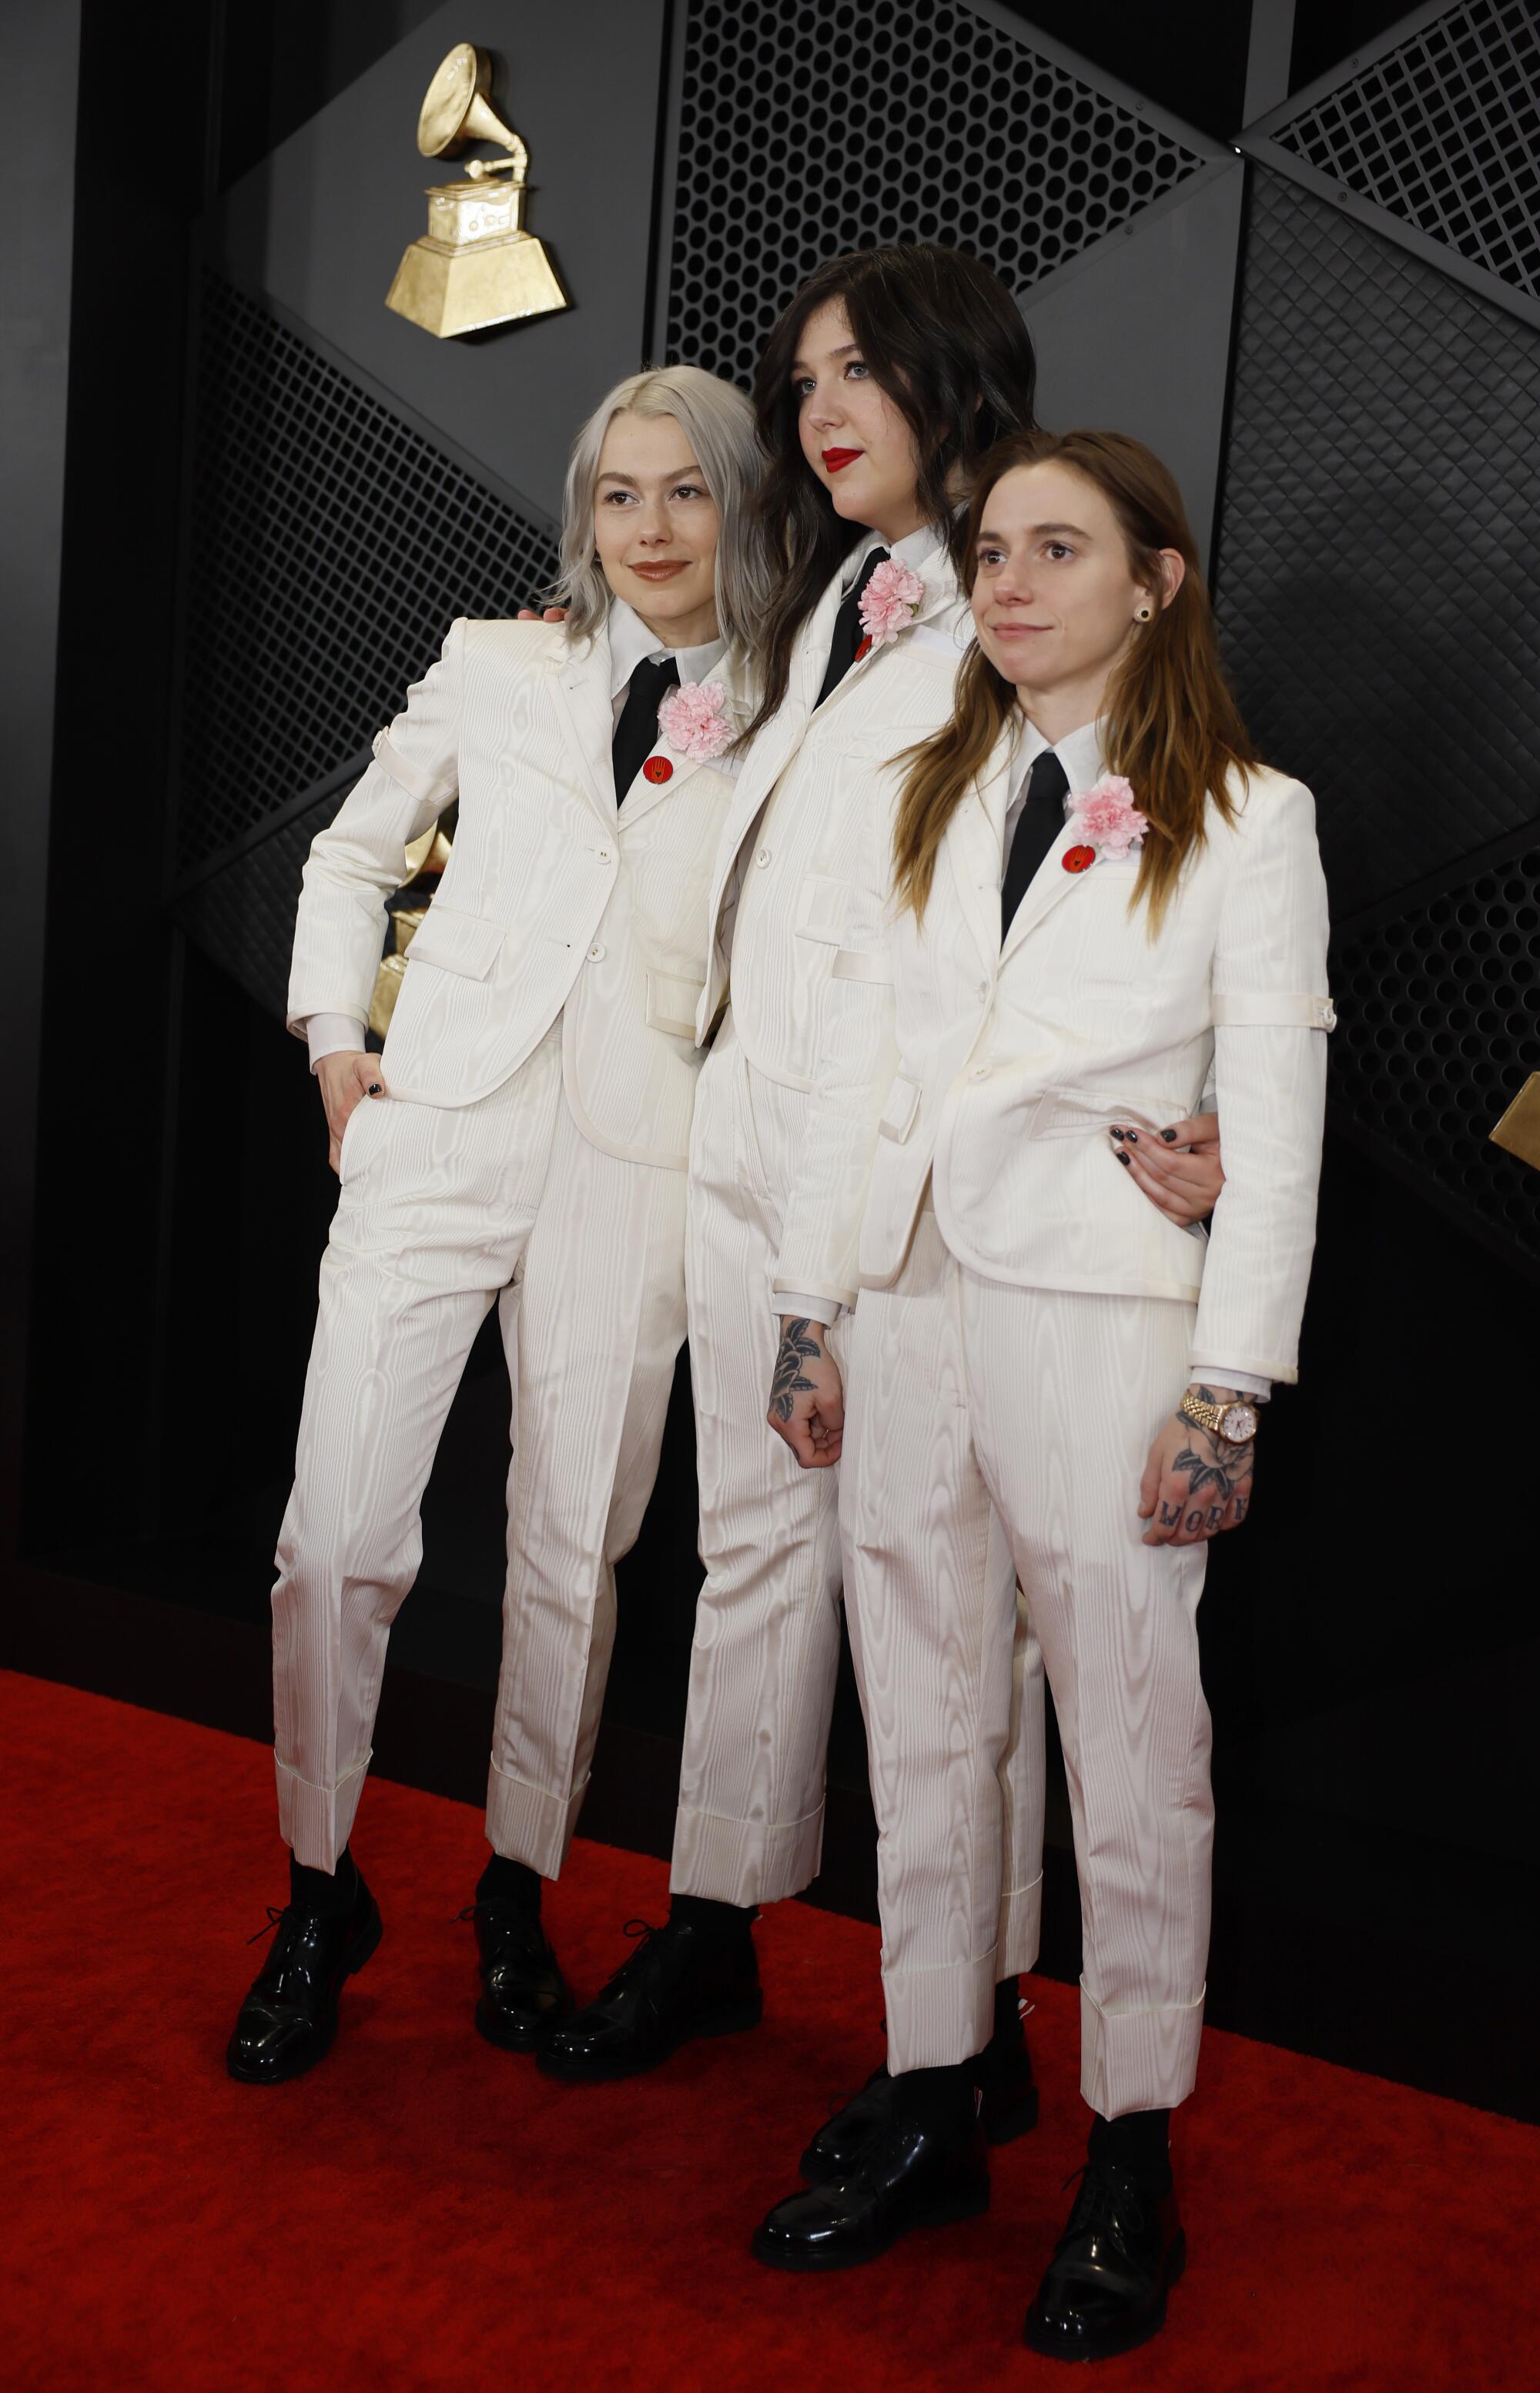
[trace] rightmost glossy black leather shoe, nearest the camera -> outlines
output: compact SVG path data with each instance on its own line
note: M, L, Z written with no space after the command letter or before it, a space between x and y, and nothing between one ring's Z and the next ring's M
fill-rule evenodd
M1186 2269L1177 2194L1150 2194L1117 2161L1088 2161L1023 2340L1050 2359L1112 2359L1165 2326Z

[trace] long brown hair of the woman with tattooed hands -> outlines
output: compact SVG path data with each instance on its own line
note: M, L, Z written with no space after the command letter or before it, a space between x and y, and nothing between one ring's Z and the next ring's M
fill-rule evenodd
M968 596L995 483L1016 467L1050 462L1071 467L1102 493L1129 546L1129 570L1155 601L1162 586L1160 550L1177 548L1186 562L1177 596L1167 605L1157 603L1148 625L1133 625L1129 651L1107 689L1102 732L1107 771L1126 775L1138 811L1150 821L1129 905L1148 907L1153 938L1181 866L1205 842L1210 799L1227 823L1234 821L1232 773L1246 775L1260 756L1224 680L1181 491L1143 440L1129 440L1126 433L1033 431L997 440L978 469L968 503L961 555ZM930 900L947 823L1012 723L1019 727L1016 692L973 639L957 677L952 720L899 759L909 763L909 773L894 826L894 883L916 919Z

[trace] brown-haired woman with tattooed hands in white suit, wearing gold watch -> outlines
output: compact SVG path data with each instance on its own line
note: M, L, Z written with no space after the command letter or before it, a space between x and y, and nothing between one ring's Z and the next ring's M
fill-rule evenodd
M1014 1603L1064 1744L1081 1876L1076 2204L1026 2324L1100 2357L1184 2264L1169 2111L1193 2084L1212 1802L1196 1613L1251 1508L1258 1402L1296 1378L1325 1103L1327 909L1310 792L1258 763L1167 469L1114 433L1019 433L966 524L976 644L952 718L878 797L847 897L892 972L897 1074L858 1230L842 1529L880 1826L892 2125L756 2249L870 2259L988 2202ZM1224 1189L1193 1240L1105 1170L1215 1070ZM820 1065L815 1113L839 1103ZM832 1091L832 1096L830 1096ZM815 1122L813 1153L825 1146ZM849 1235L856 1173L808 1206ZM904 2204L894 2185L904 2182Z

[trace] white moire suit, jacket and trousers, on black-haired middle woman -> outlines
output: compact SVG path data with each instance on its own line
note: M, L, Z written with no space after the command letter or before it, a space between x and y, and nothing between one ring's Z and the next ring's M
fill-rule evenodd
M918 553L916 553L918 550ZM830 1706L839 1658L837 1469L803 1472L765 1424L780 1290L856 1295L856 1225L875 1113L892 1074L892 988L839 979L847 890L873 864L878 766L952 711L964 613L930 538L902 543L925 584L916 629L818 689L856 550L803 625L792 684L753 742L717 857L713 962L701 1031L732 1012L701 1074L689 1175L689 1342L705 1587L696 1613L672 1886L720 1902L770 1902L818 1874ZM811 1084L837 1055L851 1213L835 1237L808 1213ZM835 1163L837 1168L837 1163ZM842 1354L844 1328L832 1331ZM1000 1532L973 1565L1014 1608ZM978 1596L983 1603L983 1594ZM1043 1670L1021 1622L1016 1699L995 1754L1007 1819L1000 1974L1038 1953Z

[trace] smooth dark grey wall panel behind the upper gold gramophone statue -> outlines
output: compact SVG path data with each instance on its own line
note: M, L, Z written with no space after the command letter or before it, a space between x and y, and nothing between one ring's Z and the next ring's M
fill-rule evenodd
M536 510L560 512L576 421L641 364L665 0L440 7L222 199L215 263L268 292ZM476 38L531 156L526 223L572 306L476 340L433 340L385 292L428 230L423 189L462 165L416 156L428 77Z

